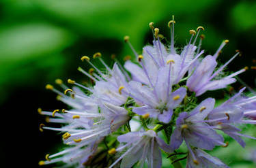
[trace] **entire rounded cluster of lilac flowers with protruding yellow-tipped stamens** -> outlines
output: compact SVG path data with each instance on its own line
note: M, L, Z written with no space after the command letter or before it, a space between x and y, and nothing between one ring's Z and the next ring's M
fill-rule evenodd
M226 88L236 82L234 77L246 71L243 68L222 75L223 69L240 52L218 66L216 59L229 42L224 40L215 54L203 57L204 35L200 35L203 27L190 30L188 44L178 50L174 46L174 24L173 18L168 23L171 44L165 46L159 29L150 22L153 45L145 46L142 54L137 54L128 36L124 37L137 58L137 61L126 58L124 67L118 61L109 67L97 52L92 57L105 67L102 71L90 62L89 56L83 56L81 61L91 68L87 72L79 67L79 71L92 84L68 80L74 85L68 88L62 80L56 80L63 93L46 85L57 93L58 100L71 108L53 112L38 109L40 114L48 116L47 122L62 125L54 128L40 124L40 131L60 131L67 145L61 152L46 154L46 161L40 161L39 165L62 163L61 167L129 168L146 164L153 168L161 167L164 152L177 167L181 159L176 159L180 154L176 150L184 142L187 151L182 154L186 154L186 167L228 167L205 150L227 147L223 134L243 147L242 137L256 139L240 133L238 128L241 124L256 124L256 97L244 97L245 88L218 106L214 98L197 101L197 97L208 90ZM162 137L166 137L166 141Z

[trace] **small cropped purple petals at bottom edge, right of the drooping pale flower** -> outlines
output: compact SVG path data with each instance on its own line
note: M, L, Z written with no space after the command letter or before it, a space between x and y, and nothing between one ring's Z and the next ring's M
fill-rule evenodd
M218 158L211 156L203 150L195 148L188 152L188 161L186 163L186 168L203 167L228 168L228 166L222 163Z

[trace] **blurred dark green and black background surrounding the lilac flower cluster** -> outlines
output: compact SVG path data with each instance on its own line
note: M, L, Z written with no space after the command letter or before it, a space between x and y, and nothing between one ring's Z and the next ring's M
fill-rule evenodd
M37 109L52 111L66 105L56 101L56 95L44 89L45 84L53 84L56 78L87 80L76 70L79 66L89 69L81 63L83 55L102 52L104 61L113 65L110 56L116 54L123 63L124 56L132 55L123 42L124 35L130 35L141 53L152 41L149 22L155 22L169 40L167 22L173 14L177 46L188 42L190 29L203 26L206 53L214 54L221 41L229 39L218 61L225 63L239 49L242 57L228 66L231 71L256 65L255 0L1 0L1 167L38 167L46 153L57 152L60 136L38 131L44 117ZM251 69L240 75L252 88L255 77ZM238 89L240 85L233 86ZM244 161L246 150L236 144L219 153L231 167L254 167Z

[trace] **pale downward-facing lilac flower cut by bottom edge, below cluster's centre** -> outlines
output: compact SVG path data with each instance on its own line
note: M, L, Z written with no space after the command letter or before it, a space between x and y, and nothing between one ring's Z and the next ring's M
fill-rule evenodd
M160 148L166 152L172 152L165 141L160 139L153 130L126 133L117 137L117 140L122 145L116 151L124 151L124 153L109 168L116 165L121 159L120 167L122 168L130 168L137 161L139 161L140 167L143 167L147 161L147 167L160 168L162 165Z

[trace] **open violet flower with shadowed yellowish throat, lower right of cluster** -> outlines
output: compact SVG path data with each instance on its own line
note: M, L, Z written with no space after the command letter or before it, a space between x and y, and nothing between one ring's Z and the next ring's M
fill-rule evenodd
M224 139L210 125L201 122L214 108L215 100L205 99L190 112L182 112L176 120L176 128L171 135L171 148L180 147L184 140L188 149L190 146L212 150L214 146L225 146Z

